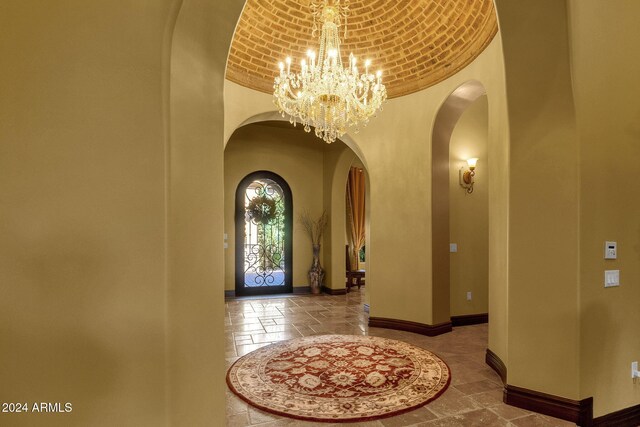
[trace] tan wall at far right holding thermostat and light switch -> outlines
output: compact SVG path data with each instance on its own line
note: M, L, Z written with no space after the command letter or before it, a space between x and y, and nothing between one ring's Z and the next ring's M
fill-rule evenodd
M569 1L580 137L580 380L594 416L640 404L640 3ZM599 52L594 60L594 52ZM618 259L603 259L604 242ZM605 289L604 270L621 285Z

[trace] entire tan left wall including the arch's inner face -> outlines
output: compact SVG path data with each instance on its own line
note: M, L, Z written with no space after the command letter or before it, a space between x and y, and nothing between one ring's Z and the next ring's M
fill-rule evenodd
M73 404L5 423L224 423L222 209L202 186L241 6L3 4L0 399Z

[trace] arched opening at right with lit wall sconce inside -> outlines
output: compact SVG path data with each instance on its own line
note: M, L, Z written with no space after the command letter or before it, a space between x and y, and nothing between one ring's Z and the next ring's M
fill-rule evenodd
M478 102L481 97L484 102ZM481 107L479 111L471 111L470 107L476 104ZM467 111L473 114L465 116ZM487 123L486 92L477 81L466 82L453 91L440 107L434 123L431 200L434 323L451 321L455 326L481 323L488 318L487 169L482 175L485 186L481 190L476 186L474 193L469 193L469 187L460 188L458 182L459 174L464 172L459 170L464 169L462 163L466 164L468 158L484 155L479 165L487 165ZM467 273L477 277L469 281Z

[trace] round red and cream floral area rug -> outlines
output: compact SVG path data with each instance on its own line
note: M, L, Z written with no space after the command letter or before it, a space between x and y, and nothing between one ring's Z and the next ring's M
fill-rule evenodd
M231 390L262 410L308 421L355 422L397 415L438 397L447 365L386 338L320 335L271 344L238 359Z

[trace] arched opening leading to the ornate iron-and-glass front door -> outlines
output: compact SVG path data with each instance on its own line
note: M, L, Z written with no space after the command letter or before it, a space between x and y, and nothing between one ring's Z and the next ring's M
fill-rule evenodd
M364 161L351 149L352 143L337 140L326 144L312 133L306 133L300 127L294 128L285 121L249 120L248 124L230 135L224 153L226 297L260 294L260 289L268 289L268 293L309 292L308 272L313 260L313 247L299 221L300 214L305 212L310 218L318 218L323 212L329 217L320 252L320 262L325 270L322 290L332 295L346 293L345 245L348 240L345 196L351 166L364 171L367 197L369 192ZM257 194L247 187L250 193L247 197L246 188L241 189L239 183L257 170L277 174L291 190L292 231L289 236L292 254L284 257L284 260L292 262L288 270L291 288L276 285L286 277L286 273L273 269L274 262L280 260L279 252L274 252L278 260L256 254L257 251L264 255L266 250L260 249L258 244L260 236L256 233L262 233L261 226L245 218L248 203ZM250 183L247 181L244 185ZM255 185L259 188L261 184ZM273 231L277 235L277 230L270 226L265 227L265 231L267 234ZM253 255L246 252L247 247L254 248ZM256 279L258 283L246 286L247 277L250 282Z

